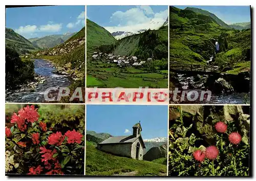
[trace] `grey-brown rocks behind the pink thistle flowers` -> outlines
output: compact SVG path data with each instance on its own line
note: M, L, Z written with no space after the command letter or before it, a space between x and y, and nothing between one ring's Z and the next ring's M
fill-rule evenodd
M237 131L242 135L242 141L249 143L250 115L244 114L241 105L185 105L182 109L183 123L186 125L193 124L192 132L204 135L205 141L209 144L214 143L212 134L216 133L215 123L225 121L238 125ZM170 122L178 119L181 115L177 107L170 106Z

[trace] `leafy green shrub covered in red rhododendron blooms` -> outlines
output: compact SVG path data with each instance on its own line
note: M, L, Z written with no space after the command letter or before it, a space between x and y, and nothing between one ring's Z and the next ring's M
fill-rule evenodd
M73 129L53 132L34 105L14 112L6 127L6 172L23 174L83 174L84 136Z

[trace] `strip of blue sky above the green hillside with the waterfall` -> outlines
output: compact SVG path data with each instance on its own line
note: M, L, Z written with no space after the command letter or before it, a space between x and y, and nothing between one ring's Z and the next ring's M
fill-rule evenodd
M250 22L250 7L249 6L175 6L180 9L186 7L200 8L211 13L214 13L218 18L233 24L237 22Z

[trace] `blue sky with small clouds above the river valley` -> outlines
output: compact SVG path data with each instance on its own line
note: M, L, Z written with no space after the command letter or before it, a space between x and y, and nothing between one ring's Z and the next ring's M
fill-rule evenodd
M84 26L84 6L6 9L6 27L25 38L77 32Z

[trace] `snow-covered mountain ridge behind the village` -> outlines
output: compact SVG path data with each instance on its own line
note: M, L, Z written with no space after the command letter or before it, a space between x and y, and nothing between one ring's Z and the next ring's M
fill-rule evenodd
M165 25L165 19L163 18L154 18L148 22L144 22L142 24L131 25L131 26L123 26L123 27L104 27L108 30L116 39L121 39L126 36L131 36L134 34L143 33L144 31L151 29L151 30L158 30L160 27ZM168 25L168 23L167 23Z

